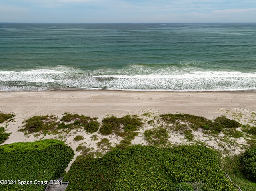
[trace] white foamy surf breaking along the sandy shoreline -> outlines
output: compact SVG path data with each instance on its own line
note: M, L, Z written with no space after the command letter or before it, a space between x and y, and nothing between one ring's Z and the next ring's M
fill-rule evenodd
M130 65L122 69L72 67L0 71L0 91L46 90L256 91L256 72L197 67Z

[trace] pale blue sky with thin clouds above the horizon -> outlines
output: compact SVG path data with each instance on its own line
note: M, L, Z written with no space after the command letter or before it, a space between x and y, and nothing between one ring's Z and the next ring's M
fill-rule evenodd
M0 22L256 22L256 0L0 0Z

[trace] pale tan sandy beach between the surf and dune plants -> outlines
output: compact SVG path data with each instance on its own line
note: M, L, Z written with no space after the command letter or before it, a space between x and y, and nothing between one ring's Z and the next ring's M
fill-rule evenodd
M23 92L0 92L0 112L14 113L14 122L6 128L12 132L4 144L12 142L27 142L39 140L42 137L24 136L18 132L22 121L29 116L57 115L64 112L83 114L90 117L98 117L99 121L106 115L117 117L127 114L143 114L152 112L165 113L187 113L204 116L208 119L224 114L223 111L249 110L256 111L256 92L167 92L167 91L23 91ZM143 130L142 130L143 132ZM146 144L142 132L140 137L132 140L132 144ZM76 134L83 135L84 140L74 142ZM63 140L74 150L82 143L96 148L96 142L90 139L92 134L78 132ZM99 140L106 136L99 135ZM177 139L175 140L175 137ZM184 136L183 136L184 137ZM57 138L56 136L45 136L44 138ZM120 138L108 136L114 146ZM208 140L198 134L198 140ZM99 141L98 140L98 141ZM179 144L182 136L171 135L170 140ZM241 142L244 140L241 140ZM213 143L217 145L216 143ZM214 146L215 147L215 146ZM76 155L78 152L76 152Z

